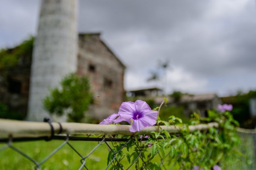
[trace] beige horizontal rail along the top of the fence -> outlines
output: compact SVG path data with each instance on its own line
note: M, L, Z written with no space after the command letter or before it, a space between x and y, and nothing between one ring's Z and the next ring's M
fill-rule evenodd
M59 133L60 125L57 122L52 122L54 134ZM129 131L130 125L95 125L82 123L63 122L62 133L69 135L134 135ZM181 130L179 126L160 126L162 130L169 133L178 133ZM200 124L189 126L190 132L203 131L211 127L218 128L218 123L211 122L209 124ZM160 132L158 126L144 128L137 132L138 135L149 135L151 132ZM0 119L0 137L44 137L51 135L51 128L47 122L29 122Z

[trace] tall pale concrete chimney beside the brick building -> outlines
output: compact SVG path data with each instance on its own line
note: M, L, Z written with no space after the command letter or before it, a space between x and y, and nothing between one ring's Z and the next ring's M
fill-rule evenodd
M27 120L49 116L42 100L64 75L76 71L77 0L42 0L34 42Z

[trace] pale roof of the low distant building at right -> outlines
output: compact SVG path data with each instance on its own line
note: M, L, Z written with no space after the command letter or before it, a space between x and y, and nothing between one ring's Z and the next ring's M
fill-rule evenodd
M180 99L180 102L196 102L196 101L208 101L213 100L217 97L216 94L198 94L198 95L183 95Z

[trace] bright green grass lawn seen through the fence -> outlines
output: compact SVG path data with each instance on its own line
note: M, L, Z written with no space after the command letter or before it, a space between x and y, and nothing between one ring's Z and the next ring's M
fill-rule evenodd
M64 141L31 141L31 142L14 142L13 146L26 153L28 156L36 161L42 161L54 149L60 146ZM70 141L69 142L82 156L86 156L91 150L97 146L97 142L90 141ZM112 147L111 142L109 142ZM0 148L6 144L0 144ZM130 148L129 152L124 148L123 152L132 154L134 147ZM151 153L148 149L148 153ZM88 158L86 158L86 166L90 170L103 170L107 167L108 148L106 144L100 145ZM80 157L71 149L68 144L65 144L57 153L50 157L45 163L41 165L41 170L74 170L81 166ZM131 158L132 161L132 158ZM158 156L152 161L160 163ZM125 168L130 165L125 157L121 162ZM140 160L141 163L141 160ZM168 166L168 165L167 165ZM1 170L34 170L35 164L21 154L17 153L11 148L0 150L0 169ZM111 166L110 166L111 167ZM85 168L83 168L85 169ZM110 169L110 168L108 168ZM135 164L130 168L135 169ZM175 169L175 168L174 168Z

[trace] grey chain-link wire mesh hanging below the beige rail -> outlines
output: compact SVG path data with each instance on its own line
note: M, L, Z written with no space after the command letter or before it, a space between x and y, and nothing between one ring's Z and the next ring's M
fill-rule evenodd
M206 132L206 131L205 131ZM229 164L225 167L226 170L243 169L254 170L256 169L255 153L256 153L256 133L242 133L238 132L241 143L237 148L246 157L239 157L234 164ZM119 138L118 138L119 137ZM109 169L109 170L127 170L127 169L159 169L164 170L176 170L183 169L185 162L180 164L178 159L181 159L185 154L183 152L177 153L177 157L174 159L170 153L172 150L166 150L164 155L160 150L157 150L156 156L151 157L149 150L148 153L142 152L144 145L139 143L133 143L129 146L129 143L135 140L136 136L127 136L126 138L120 138L121 136L113 138L112 135L106 137L95 137L93 135L87 136L70 136L70 135L55 135L51 141L47 141L49 137L38 138L0 138L0 164L2 169L36 169L36 170L49 170L49 169ZM44 141L43 141L44 140ZM140 141L147 141L145 135L142 135ZM40 142L36 147L33 143ZM79 144L77 144L79 142ZM93 144L92 144L93 142ZM210 139L206 142L208 146ZM116 145L118 143L118 147ZM26 146L26 147L24 147ZM35 153L31 153L29 150L34 147ZM44 154L38 152L39 150L50 151ZM41 148L40 148L41 147ZM132 149L128 150L128 147ZM148 146L149 147L149 146ZM63 152L69 148L68 156L63 157ZM9 150L8 150L9 149ZM11 150L19 154L21 157L27 159L17 159L18 155L11 154ZM62 150L62 151L61 151ZM86 152L85 152L86 150ZM205 153L201 158L209 159L213 148L209 149L208 153ZM192 154L192 153L188 153ZM39 155L39 156L38 156ZM55 156L56 155L56 156ZM55 157L54 157L55 156ZM54 159L58 159L60 163L55 163ZM63 158L62 158L63 157ZM187 157L188 158L188 157ZM4 161L9 159L8 163ZM17 160L16 160L17 159ZM24 162L24 163L23 163ZM56 161L57 162L57 161ZM152 163L154 162L154 164ZM52 163L52 164L50 164ZM26 164L29 164L28 166ZM32 164L32 166L31 166ZM55 165L53 165L55 164ZM62 164L62 166L60 166ZM155 166L157 164L157 166ZM17 168L18 167L18 168ZM55 167L55 168L54 168ZM154 168L153 168L154 167Z

